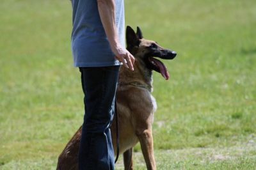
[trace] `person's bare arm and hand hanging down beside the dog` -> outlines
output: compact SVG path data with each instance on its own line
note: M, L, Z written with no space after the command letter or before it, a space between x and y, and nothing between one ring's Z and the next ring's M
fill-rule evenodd
M97 0L100 20L108 37L111 50L116 55L116 59L121 61L127 68L133 70L134 57L124 49L118 40L115 25L115 0ZM125 63L125 60L127 63Z

